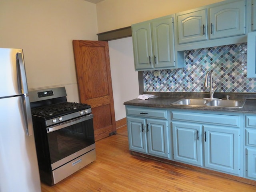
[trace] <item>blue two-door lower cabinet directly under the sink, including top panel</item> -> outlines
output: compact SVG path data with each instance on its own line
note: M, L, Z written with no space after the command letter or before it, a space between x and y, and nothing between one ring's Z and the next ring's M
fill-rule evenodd
M174 160L236 176L243 174L241 114L173 110L171 120Z

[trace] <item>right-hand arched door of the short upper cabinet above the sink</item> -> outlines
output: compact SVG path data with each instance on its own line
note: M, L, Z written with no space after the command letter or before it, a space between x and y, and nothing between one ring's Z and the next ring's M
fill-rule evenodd
M210 39L246 33L246 1L228 3L209 9Z

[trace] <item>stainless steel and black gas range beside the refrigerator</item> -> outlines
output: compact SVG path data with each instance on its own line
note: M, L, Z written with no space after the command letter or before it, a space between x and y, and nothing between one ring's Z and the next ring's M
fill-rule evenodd
M96 160L90 105L67 102L65 87L29 91L40 178L54 185Z

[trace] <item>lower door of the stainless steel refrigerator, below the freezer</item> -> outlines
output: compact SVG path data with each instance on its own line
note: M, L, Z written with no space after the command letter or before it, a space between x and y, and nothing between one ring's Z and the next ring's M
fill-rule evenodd
M27 135L25 96L0 99L0 192L40 192L34 133Z

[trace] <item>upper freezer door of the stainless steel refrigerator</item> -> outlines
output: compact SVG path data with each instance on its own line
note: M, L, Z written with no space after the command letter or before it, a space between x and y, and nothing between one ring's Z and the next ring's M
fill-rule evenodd
M28 93L22 49L0 48L0 98Z

